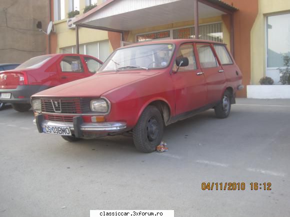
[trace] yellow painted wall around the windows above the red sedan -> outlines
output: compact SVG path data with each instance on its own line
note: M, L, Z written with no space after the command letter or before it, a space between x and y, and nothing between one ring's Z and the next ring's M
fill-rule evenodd
M98 0L97 3L101 4L102 0ZM85 7L85 0L80 0L79 8L80 14L83 13L83 8ZM57 49L56 52L60 53L61 48L75 46L75 29L68 29L66 24L68 12L68 0L65 0L65 19L58 20L54 22L54 29L57 34ZM79 44L108 40L107 31L89 29L89 28L79 28L78 31ZM112 48L110 46L110 50Z

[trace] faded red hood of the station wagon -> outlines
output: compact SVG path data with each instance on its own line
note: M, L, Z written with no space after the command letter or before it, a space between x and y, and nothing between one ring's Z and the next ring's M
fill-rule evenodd
M145 73L113 73L93 75L41 91L33 96L45 97L95 97L125 84L141 80L153 72Z

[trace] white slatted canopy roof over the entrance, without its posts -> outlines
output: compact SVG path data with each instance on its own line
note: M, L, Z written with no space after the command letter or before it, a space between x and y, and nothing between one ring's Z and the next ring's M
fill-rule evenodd
M212 3L213 0L208 1ZM215 0L216 1L216 0ZM218 0L219 2L219 0ZM225 3L224 3L225 4ZM225 4L224 10L231 6ZM80 26L134 30L194 19L192 0L114 0L95 12L76 20ZM234 8L231 8L234 10ZM226 14L217 8L198 2L198 17Z

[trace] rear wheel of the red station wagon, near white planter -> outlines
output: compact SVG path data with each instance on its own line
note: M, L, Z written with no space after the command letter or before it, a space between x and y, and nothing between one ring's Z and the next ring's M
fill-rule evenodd
M223 93L222 99L218 105L214 107L215 116L217 118L227 118L231 108L231 93L226 90Z

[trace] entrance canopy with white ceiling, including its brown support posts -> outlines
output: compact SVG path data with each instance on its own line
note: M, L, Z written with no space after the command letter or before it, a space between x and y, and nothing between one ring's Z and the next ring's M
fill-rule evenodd
M78 28L120 32L194 20L198 39L198 19L230 15L230 51L233 51L233 12L237 8L221 0L106 0L79 16L76 25L76 51L79 52ZM122 40L122 39L121 39Z

